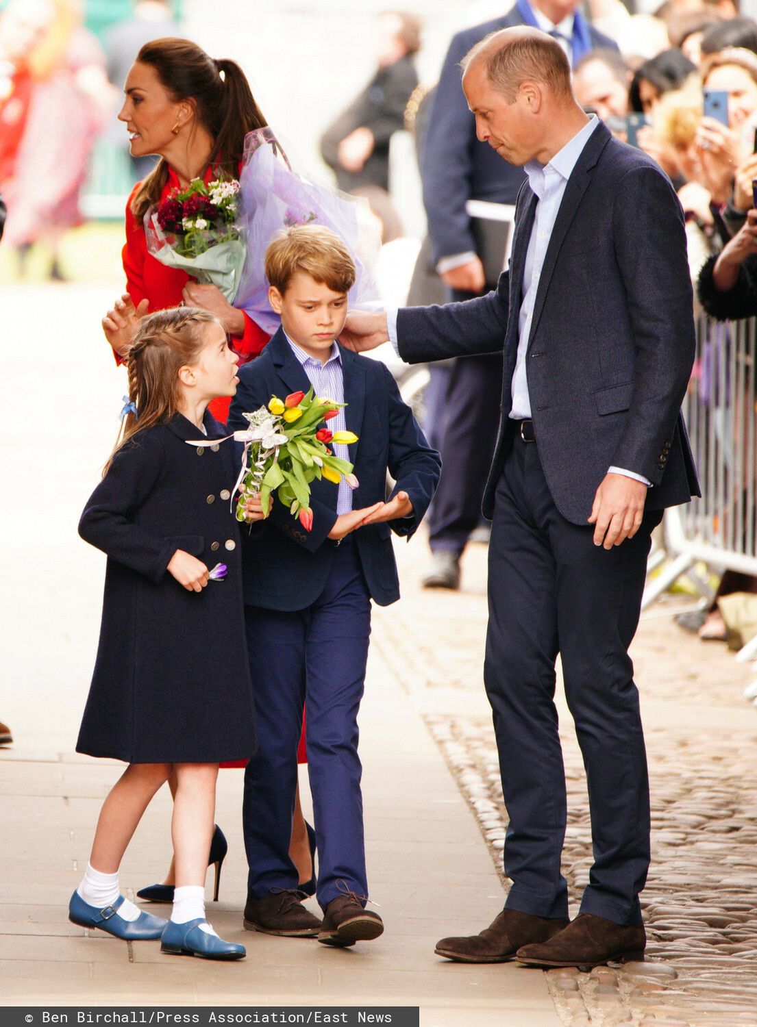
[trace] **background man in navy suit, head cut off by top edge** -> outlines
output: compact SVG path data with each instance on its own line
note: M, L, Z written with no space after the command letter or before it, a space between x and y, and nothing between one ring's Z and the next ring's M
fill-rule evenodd
M518 0L506 14L457 33L450 43L428 117L421 165L432 261L451 289L450 299L469 300L496 284L496 277L486 280L486 236L476 232L467 201L515 203L525 180L523 168L503 163L491 147L477 140L476 120L460 82L460 61L490 33L518 25L554 32L573 68L596 47L616 50L611 39L586 23L578 7L578 0ZM440 443L444 470L428 514L433 554L425 578L428 585L455 587L459 581L460 555L480 520L492 455L482 438L494 434L501 367L497 354L431 368L445 401L434 418L444 425ZM466 487L461 489L463 480Z

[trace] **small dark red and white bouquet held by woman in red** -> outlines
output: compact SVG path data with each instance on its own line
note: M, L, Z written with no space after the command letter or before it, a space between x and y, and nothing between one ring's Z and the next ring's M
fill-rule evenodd
M207 184L194 179L145 214L147 249L166 267L218 286L231 303L247 256L238 207L236 179L214 179Z

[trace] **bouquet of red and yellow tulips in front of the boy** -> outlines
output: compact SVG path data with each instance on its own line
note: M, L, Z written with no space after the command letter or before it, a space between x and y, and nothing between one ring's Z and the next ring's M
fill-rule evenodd
M306 531L312 530L310 483L325 478L338 484L342 478L351 489L357 488L352 464L334 456L329 443L345 446L357 442L352 431L330 431L327 421L337 416L346 404L320 400L313 394L293 392L286 400L271 396L267 407L244 414L250 427L235 431L244 443L242 469L237 481L239 499L236 520L244 520L248 495L260 493L263 514L270 511L271 495L289 506ZM323 427L318 425L323 424Z

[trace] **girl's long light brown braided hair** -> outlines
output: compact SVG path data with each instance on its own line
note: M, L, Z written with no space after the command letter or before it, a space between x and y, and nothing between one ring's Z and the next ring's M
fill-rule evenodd
M142 319L126 353L128 401L137 413L129 410L121 421L103 478L130 439L155 424L166 424L179 412L179 369L197 362L207 341L207 325L222 327L215 314L197 307L171 307Z

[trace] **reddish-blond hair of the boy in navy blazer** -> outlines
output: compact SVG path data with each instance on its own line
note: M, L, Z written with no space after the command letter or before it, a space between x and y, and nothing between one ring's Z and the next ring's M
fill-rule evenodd
M277 232L265 252L265 276L283 296L292 278L304 271L333 293L348 293L356 275L343 240L323 225L293 225Z

